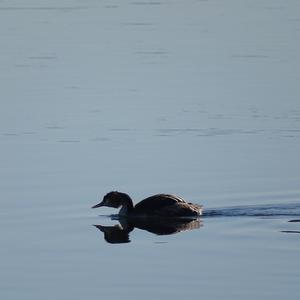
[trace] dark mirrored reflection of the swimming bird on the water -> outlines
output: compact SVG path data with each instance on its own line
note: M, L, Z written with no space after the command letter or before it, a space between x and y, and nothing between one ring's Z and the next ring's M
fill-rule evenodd
M201 222L198 219L173 219L173 218L121 218L120 224L114 226L94 225L104 233L104 239L108 243L129 243L129 233L134 228L149 231L157 235L168 235L182 231L198 229Z

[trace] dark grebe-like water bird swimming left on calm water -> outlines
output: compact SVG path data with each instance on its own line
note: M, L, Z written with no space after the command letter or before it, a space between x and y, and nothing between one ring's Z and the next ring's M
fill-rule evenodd
M118 191L109 192L92 208L102 206L121 208L119 217L199 217L203 211L202 205L186 202L171 194L153 195L134 206L129 195Z

